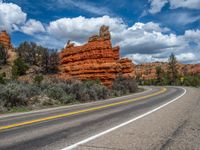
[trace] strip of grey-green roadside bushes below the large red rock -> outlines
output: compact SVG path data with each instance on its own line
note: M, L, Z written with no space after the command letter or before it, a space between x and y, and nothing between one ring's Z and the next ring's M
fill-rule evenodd
M98 80L44 80L42 75L35 76L33 83L5 80L0 83L0 112L103 100L134 93L137 89L134 79L123 77L118 77L111 88Z

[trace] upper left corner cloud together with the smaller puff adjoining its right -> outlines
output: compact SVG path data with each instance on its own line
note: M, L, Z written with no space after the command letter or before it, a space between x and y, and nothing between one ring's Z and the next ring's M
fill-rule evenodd
M40 21L29 19L21 7L13 3L0 2L0 30L20 31L28 35L45 32Z

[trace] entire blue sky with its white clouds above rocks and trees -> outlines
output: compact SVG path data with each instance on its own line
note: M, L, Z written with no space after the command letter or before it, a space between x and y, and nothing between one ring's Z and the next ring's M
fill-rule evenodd
M135 63L200 63L200 0L0 0L0 30L12 42L61 49L109 25L113 45Z

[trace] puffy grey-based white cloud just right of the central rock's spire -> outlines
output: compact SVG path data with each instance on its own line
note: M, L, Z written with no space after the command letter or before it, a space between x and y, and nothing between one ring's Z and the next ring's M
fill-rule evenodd
M135 23L121 34L123 38L118 44L123 49L122 55L128 53L154 54L177 47L176 35L162 33L167 31L169 31L168 28L161 28L157 23Z

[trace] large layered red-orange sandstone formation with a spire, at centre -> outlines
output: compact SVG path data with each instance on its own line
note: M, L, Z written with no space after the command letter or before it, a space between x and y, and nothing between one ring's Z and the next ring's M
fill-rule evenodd
M108 26L101 26L99 35L93 35L88 43L75 46L70 41L60 52L60 75L65 80L95 80L111 86L121 75L135 77L134 65L129 59L120 59L119 46L112 47Z

